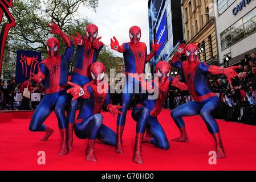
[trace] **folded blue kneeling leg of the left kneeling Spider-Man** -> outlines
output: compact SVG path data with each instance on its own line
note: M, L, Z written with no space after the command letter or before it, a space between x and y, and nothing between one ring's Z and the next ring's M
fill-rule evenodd
M103 124L100 126L97 139L111 146L116 146L116 133Z

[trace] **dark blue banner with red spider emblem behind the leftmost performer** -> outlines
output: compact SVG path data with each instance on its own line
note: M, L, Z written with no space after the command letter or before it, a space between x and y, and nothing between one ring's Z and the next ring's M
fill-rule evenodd
M38 64L42 61L42 53L36 51L17 51L16 82L25 81L30 73L38 73Z

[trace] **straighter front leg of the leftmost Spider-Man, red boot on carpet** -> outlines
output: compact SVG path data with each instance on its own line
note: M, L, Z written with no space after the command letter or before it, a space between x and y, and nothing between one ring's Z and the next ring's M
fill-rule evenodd
M58 124L59 124L59 131L60 131L60 137L62 139L59 155L66 155L68 154L68 121L67 117L65 115L66 107L68 104L68 95L66 91L63 92L58 98L58 101L55 105L55 114L58 118Z

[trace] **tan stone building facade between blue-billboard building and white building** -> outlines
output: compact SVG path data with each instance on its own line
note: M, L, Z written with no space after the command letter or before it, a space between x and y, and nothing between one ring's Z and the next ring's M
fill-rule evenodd
M200 61L218 64L213 0L182 0L181 6L186 44L200 43L204 48L199 56Z

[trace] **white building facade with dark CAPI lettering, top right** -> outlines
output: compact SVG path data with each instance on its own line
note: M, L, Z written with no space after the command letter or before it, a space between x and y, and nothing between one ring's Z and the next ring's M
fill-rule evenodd
M230 56L229 65L241 63L256 52L256 1L214 0L219 62Z

